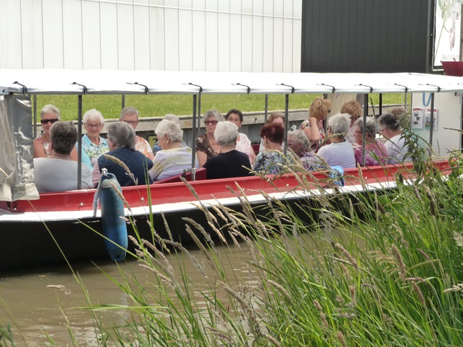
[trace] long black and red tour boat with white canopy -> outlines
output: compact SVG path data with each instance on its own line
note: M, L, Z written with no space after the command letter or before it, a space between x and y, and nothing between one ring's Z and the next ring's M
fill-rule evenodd
M0 271L108 257L102 236L101 212L94 213L96 189L38 194L33 184L31 107L24 96L75 94L81 134L82 95L191 94L196 124L200 94L329 93L461 93L461 78L430 74L264 74L168 71L0 70ZM368 102L367 102L368 104ZM288 102L286 110L288 112ZM365 109L364 117L368 110ZM288 117L285 119L286 125ZM193 126L195 128L195 126ZM193 144L194 146L194 144ZM193 151L194 152L194 151ZM344 172L343 185L330 180L330 170L298 174L205 180L205 170L153 185L123 187L128 234L151 242L151 228L163 238L188 243L190 218L208 230L204 209L217 206L241 211L264 207L271 199L295 203L321 194L362 194L394 189L398 174L405 180L411 163L364 167ZM446 160L436 169L449 172ZM258 213L264 217L265 209ZM119 217L117 217L119 218ZM135 226L135 228L133 227ZM168 228L167 228L168 226ZM198 232L198 230L196 230ZM226 230L224 230L226 233ZM199 232L198 232L199 233ZM134 246L128 243L128 251Z

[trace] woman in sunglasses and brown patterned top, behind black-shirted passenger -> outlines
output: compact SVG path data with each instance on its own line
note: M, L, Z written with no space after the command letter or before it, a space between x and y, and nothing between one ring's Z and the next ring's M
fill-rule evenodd
M219 154L220 146L214 138L214 131L219 121L223 120L220 112L214 109L204 114L205 133L196 139L196 156L200 167L206 160Z

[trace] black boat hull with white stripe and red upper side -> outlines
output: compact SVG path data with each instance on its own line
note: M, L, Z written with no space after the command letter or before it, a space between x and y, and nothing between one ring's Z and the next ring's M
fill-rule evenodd
M449 169L447 162L436 165L439 170ZM242 212L244 203L264 219L269 198L291 206L296 214L310 223L317 216L309 216L307 210L301 210L301 206L312 204L316 207L315 197L321 194L321 189L323 194L346 194L348 198L355 198L373 190L394 189L398 172L405 178L409 173L406 167L364 168L362 183L357 169L348 170L344 176L344 187L320 185L326 174L314 174L308 178L308 187L304 188L300 187L300 179L289 174L273 180L253 177L202 180L192 182L190 186L166 183L128 187L123 189L124 197L131 206L126 208L128 235L154 242L157 238L153 235L155 230L158 237L172 237L186 246L192 243L192 237L185 230L185 219L192 219L217 240L219 237L208 227L203 210L212 211L217 216L212 206L221 205ZM0 202L0 239L5 245L0 253L0 271L108 259L101 213L98 211L96 216L93 215L94 194L95 190L91 189L42 194L37 201ZM246 194L246 202L243 202L243 194ZM219 217L217 220L221 221ZM199 230L192 230L203 239ZM224 236L228 236L226 228ZM134 250L135 245L129 240L128 257Z

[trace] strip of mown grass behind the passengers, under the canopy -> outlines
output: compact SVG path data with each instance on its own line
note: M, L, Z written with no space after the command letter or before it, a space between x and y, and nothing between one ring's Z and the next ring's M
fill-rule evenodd
M289 108L308 108L315 94L294 94L289 96ZM371 94L374 104L378 104L379 94ZM83 112L96 108L106 119L117 118L121 110L120 95L84 95ZM403 103L403 94L384 94L383 101L387 104ZM77 119L77 96L69 95L40 95L37 96L37 110L51 103L56 105L62 113L63 120ZM133 105L140 111L141 117L162 117L167 113L174 115L192 114L192 96L189 95L127 95L126 105ZM201 110L217 108L227 112L231 108L238 108L243 112L264 110L264 95L203 95L201 96ZM284 95L269 95L269 110L284 110Z

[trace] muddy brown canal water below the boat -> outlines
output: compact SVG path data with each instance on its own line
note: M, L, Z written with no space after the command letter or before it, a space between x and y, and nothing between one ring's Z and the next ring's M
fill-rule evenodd
M339 236L339 235L338 235ZM303 236L307 244L312 244L312 236ZM240 285L252 285L253 266L251 247L241 243L239 248L217 247L224 271ZM201 251L190 251L200 264L207 268L207 259ZM198 287L204 277L193 264L189 256L169 255L169 262L180 275L180 266ZM73 266L83 282L87 297L91 303L101 305L131 305L131 300L103 273L115 280L123 281L126 276L136 276L141 283L153 282L154 275L144 269L135 260L119 263L103 261L98 264L77 264ZM69 267L53 267L40 271L0 273L0 325L3 328L10 323L16 346L39 346L48 342L47 335L58 346L72 345L68 325L78 346L96 345L97 335L94 321L89 310L84 289L78 284ZM98 312L105 327L123 324L128 312L111 310ZM5 341L0 340L0 346ZM3 343L3 344L2 344Z

